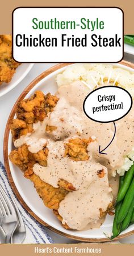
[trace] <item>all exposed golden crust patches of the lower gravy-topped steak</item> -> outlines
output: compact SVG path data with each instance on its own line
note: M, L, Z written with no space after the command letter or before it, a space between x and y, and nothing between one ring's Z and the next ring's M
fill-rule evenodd
M86 158L86 147L89 144L89 142L90 139L71 139L69 143L71 143L71 147L73 150L69 151L68 154L65 154L65 157L73 157L74 161L82 161L82 159ZM79 145L79 147L77 148L76 145ZM80 153L81 151L82 154ZM35 154L31 153L28 150L28 146L24 144L20 146L18 149L12 150L9 155L9 158L12 163L14 163L24 172L24 177L30 179L30 181L33 182L35 189L39 194L39 197L43 199L44 205L49 207L50 209L53 209L53 213L62 223L62 217L60 216L60 214L58 214L59 204L65 198L66 194L68 194L71 191L75 191L76 189L73 187L71 183L64 181L64 179L60 179L60 181L58 181L59 187L55 188L52 185L49 185L48 183L42 181L39 178L39 176L33 173L32 167L35 163L39 163L42 166L47 166L47 155L47 146L44 147L43 150L40 150L38 153ZM103 218L106 215L106 213L111 210L111 207L112 204L108 206L106 212L103 212L102 209L100 209L100 218ZM65 229L70 229L69 226L66 224L62 224L62 226L64 226Z

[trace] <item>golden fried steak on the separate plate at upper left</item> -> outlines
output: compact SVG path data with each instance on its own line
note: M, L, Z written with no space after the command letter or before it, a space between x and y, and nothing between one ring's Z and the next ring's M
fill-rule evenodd
M11 35L0 35L0 85L9 83L20 63L12 58Z

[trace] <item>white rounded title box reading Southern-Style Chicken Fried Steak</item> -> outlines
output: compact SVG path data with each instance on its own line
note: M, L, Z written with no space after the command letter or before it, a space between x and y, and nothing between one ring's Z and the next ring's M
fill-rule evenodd
M119 62L123 11L118 7L19 7L12 14L18 62Z

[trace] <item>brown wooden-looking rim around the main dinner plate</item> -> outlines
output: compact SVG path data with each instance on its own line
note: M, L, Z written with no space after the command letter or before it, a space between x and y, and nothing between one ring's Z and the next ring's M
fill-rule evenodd
M120 64L124 65L124 66L128 66L131 67L132 69L134 69L134 64L128 61L121 61L119 62ZM5 135L4 135L4 141L3 141L3 155L4 155L4 162L5 162L5 168L6 168L6 172L7 172L7 176L9 178L9 182L11 184L12 190L14 191L16 197L18 198L18 200L20 201L20 203L22 203L24 209L26 209L28 211L28 213L30 213L32 215L33 218L35 218L38 222L40 222L43 226L47 227L48 229L55 231L57 234L60 235L64 235L65 237L68 238L72 238L74 240L78 240L78 241L83 241L83 242L108 242L111 241L108 238L101 238L101 239L97 239L97 238L82 238L82 237L76 237L74 235L69 235L66 234L60 230L55 229L52 226L49 226L47 223L45 223L42 219L40 219L39 217L37 217L37 215L35 213L33 213L33 211L30 209L30 207L27 206L27 204L24 202L23 198L21 197L21 195L19 194L18 190L16 189L15 183L12 179L12 175L11 175L11 171L10 171L10 166L9 166L9 157L8 157L8 141L9 141L9 132L10 132L10 121L12 118L14 118L15 115L15 110L16 110L16 105L19 101L21 101L24 97L26 97L26 95L29 93L29 91L39 82L41 81L43 78L47 77L47 75L51 74L52 72L61 69L62 67L68 66L72 63L60 63L57 64L55 66L52 66L51 68L49 68L48 70L45 70L43 73L41 73L37 78L35 78L27 87L26 89L23 90L22 94L20 94L19 98L17 99L17 101L15 102L14 106L12 107L11 113L9 115L9 119L7 121L6 124L6 129L5 129ZM115 64L116 65L116 64ZM120 238L125 238L128 237L129 235L134 234L134 230L129 231L123 235L119 235L119 237L114 238L112 241L116 241Z

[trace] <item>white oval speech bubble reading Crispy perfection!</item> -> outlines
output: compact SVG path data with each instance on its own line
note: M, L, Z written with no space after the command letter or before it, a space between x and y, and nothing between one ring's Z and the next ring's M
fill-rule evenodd
M91 91L83 102L83 111L95 122L117 121L131 110L133 100L127 90L118 86L103 86Z

